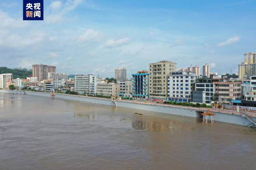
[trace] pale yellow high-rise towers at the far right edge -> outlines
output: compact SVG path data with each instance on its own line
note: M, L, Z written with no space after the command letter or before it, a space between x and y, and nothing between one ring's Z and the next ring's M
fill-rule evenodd
M238 64L238 74L241 80L256 75L256 53L244 54L244 61Z

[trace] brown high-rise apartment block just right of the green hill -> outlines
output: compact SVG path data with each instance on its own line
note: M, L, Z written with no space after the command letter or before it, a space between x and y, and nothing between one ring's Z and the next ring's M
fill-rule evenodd
M37 77L39 82L48 79L48 72L56 73L56 66L50 66L46 64L32 65L32 76Z

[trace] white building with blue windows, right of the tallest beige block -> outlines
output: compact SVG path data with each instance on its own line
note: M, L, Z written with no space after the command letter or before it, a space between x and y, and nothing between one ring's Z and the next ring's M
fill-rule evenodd
M195 72L172 72L168 76L168 100L191 102L196 78Z

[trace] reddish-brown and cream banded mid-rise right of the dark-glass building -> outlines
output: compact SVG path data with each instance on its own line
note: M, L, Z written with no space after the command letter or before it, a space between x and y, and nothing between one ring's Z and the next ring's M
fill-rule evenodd
M232 104L231 100L242 98L242 82L228 78L214 78L214 97L220 104Z

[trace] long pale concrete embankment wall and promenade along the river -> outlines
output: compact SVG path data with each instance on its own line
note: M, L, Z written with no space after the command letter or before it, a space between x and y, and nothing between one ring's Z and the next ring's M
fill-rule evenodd
M26 92L28 95L36 95L42 97L50 98L50 93L47 92L31 92L31 91L11 91L11 90L0 90L0 92L8 92L8 93L20 93L23 94ZM176 106L176 105L167 105L167 104L156 104L152 102L138 102L138 101L124 101L124 100L115 100L112 101L106 98L94 98L90 96L77 96L71 94L55 94L55 98L61 98L66 100L76 100L80 102L90 102L94 104L104 104L108 106L114 107L126 107L132 109L140 109L146 111L155 111L160 113L167 113L173 115L181 115L188 117L200 117L200 113L210 110L212 113L215 113L214 116L215 121L222 121L226 123L233 123L237 125L248 126L252 122L246 117L242 117L241 113L233 111L233 110L222 110L222 109L210 109L204 107L188 107L188 106ZM250 113L252 119L256 121L255 113Z

